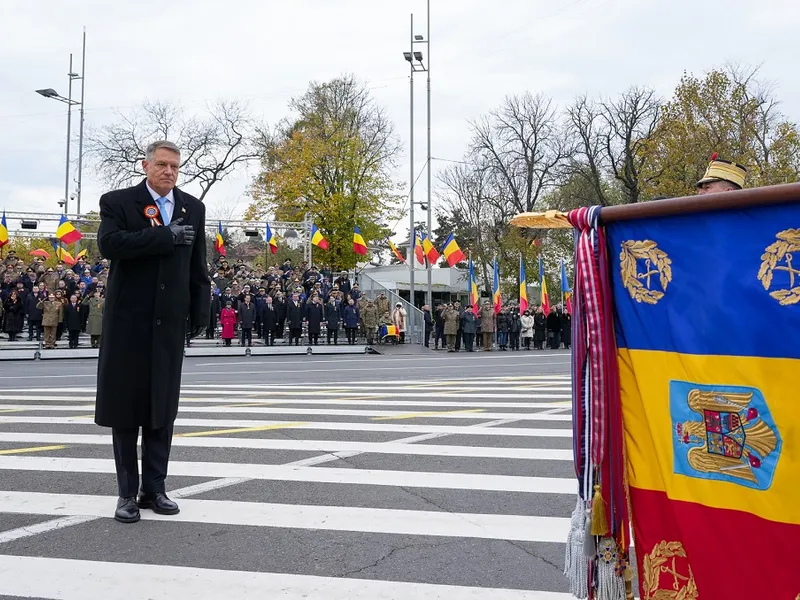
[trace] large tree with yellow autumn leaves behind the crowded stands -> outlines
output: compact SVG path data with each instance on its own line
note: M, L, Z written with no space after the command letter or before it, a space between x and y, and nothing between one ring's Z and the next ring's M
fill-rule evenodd
M296 118L270 135L245 218L300 221L310 214L329 242L327 251L315 249L315 261L352 268L353 228L367 242L380 240L397 217L393 126L351 76L312 83L290 108Z

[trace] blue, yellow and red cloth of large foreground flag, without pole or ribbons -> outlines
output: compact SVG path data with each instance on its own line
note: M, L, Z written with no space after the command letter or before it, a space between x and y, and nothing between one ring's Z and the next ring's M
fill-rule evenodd
M800 595L800 198L606 226L643 599Z

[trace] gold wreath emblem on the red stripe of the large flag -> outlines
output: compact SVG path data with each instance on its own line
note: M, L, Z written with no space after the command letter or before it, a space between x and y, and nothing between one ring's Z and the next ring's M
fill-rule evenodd
M697 600L697 584L680 542L662 541L644 557L644 600ZM661 574L665 574L661 587ZM666 586L672 589L666 589Z

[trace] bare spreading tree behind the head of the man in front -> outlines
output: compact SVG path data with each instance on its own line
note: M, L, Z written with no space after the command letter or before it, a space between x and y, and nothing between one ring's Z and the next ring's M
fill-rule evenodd
M87 135L87 156L112 187L144 177L147 145L169 139L181 149L181 180L196 184L203 200L215 183L263 153L263 133L246 107L218 102L202 118L187 116L169 102L146 101L130 114Z

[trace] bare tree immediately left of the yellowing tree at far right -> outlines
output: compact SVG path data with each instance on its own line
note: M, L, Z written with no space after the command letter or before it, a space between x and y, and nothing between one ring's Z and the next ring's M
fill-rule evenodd
M578 141L573 170L589 181L602 205L609 204L604 181L616 181L627 203L641 200L642 173L661 115L653 90L632 87L615 100L579 97L567 109L570 132ZM650 174L655 177L657 174Z

